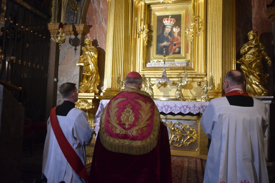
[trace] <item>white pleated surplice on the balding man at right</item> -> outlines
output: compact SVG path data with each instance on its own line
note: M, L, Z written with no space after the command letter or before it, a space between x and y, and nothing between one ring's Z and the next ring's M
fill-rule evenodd
M226 97L209 102L200 120L212 141L204 183L268 183L264 158L267 107L257 99L254 107L230 105Z

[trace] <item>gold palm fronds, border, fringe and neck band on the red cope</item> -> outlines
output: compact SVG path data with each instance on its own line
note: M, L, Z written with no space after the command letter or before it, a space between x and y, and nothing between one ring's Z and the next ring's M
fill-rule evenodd
M134 88L125 88L123 91L130 91L130 92L135 92L139 93L141 95L145 96L150 96L148 93L142 91L142 90L137 90ZM110 137L106 131L105 131L105 116L106 113L109 113L108 119L106 121L109 122L109 128L113 129L115 127L116 132L121 130L121 126L118 125L118 119L117 119L117 111L118 111L118 103L121 102L122 100L126 100L126 98L119 98L118 100L110 100L109 104L106 105L103 114L100 119L100 130L99 130L99 137L102 145L109 151L112 152L118 152L118 153L125 153L125 154L132 154L132 155L141 155L141 154L146 154L150 152L152 149L154 149L157 145L158 142L158 137L159 137L159 127L160 127L160 115L159 115L159 110L157 106L152 103L151 105L152 109L149 111L149 103L144 103L142 102L142 107L138 113L140 113L140 121L136 122L136 126L133 127L133 130L136 130L136 132L142 132L143 130L148 130L147 129L147 119L148 116L154 115L154 123L153 123L153 129L149 137L143 140L127 140L127 139L119 139L119 138L114 138ZM137 99L135 99L137 100ZM108 107L109 106L109 107ZM107 109L108 108L108 109ZM150 114L149 112L153 112L154 114ZM135 118L137 118L137 114L135 115ZM111 122L112 123L111 123ZM138 129L139 128L139 129ZM113 131L114 132L114 131ZM133 131L134 132L134 131ZM119 131L121 133L121 131Z

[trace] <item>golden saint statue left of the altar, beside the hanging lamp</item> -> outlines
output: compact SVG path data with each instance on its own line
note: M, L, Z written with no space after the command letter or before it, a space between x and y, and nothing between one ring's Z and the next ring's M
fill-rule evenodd
M86 47L82 47L83 54L76 62L77 66L84 69L82 81L79 84L79 93L98 93L97 86L100 83L97 66L97 48L91 45L90 38L85 39Z

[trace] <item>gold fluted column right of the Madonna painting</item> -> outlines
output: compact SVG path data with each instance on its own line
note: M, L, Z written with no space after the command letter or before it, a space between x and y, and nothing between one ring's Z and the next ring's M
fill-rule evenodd
M207 1L207 79L213 73L221 97L224 75L236 68L235 1Z

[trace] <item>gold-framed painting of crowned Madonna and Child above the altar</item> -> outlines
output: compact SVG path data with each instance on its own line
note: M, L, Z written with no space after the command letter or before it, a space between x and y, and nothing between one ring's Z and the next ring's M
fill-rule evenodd
M181 4L171 4L165 9L162 5L151 5L150 27L152 39L149 49L148 62L162 62L165 54L169 54L166 63L177 62L176 65L182 67L190 67L190 43L185 30L189 27L190 16L192 17L191 2ZM166 29L170 32L167 34ZM179 31L178 31L179 30ZM174 36L178 31L178 35ZM178 39L180 37L180 39ZM177 42L177 43L176 43ZM180 42L180 43L178 43ZM169 44L168 46L162 46ZM151 64L152 65L152 64ZM150 67L150 64L146 64Z

